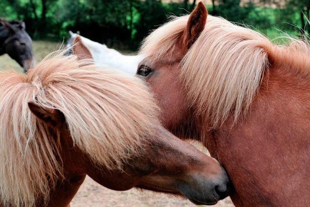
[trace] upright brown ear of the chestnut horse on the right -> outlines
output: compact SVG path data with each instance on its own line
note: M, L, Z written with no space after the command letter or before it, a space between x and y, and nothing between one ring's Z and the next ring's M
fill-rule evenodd
M206 7L202 2L199 2L187 21L186 31L184 32L183 37L183 44L186 49L189 49L199 37L200 33L204 29L207 16L208 11Z

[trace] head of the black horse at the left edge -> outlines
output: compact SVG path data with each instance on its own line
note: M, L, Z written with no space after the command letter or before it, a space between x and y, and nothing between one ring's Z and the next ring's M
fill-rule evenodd
M0 23L0 55L7 53L27 72L34 64L34 57L25 22L0 19Z

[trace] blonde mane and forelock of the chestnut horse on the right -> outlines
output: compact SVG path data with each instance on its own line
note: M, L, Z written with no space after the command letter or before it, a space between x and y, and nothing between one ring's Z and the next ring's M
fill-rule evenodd
M152 32L140 53L151 61L170 59L188 17L175 17ZM309 44L291 39L288 46L276 46L259 32L208 15L204 30L181 61L180 79L187 100L211 127L220 126L231 115L236 121L248 111L271 64L310 68Z

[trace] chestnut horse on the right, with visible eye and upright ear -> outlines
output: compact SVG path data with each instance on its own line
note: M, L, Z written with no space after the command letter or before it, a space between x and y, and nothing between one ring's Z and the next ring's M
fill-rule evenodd
M310 46L287 46L200 2L151 33L137 74L165 127L200 140L227 170L236 206L310 204Z

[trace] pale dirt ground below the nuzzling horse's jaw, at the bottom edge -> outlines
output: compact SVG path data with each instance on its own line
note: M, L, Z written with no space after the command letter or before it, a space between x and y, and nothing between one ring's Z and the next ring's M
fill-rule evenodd
M139 191L112 191L100 186L90 177L86 177L71 207L194 207L195 205L178 197L167 194ZM226 198L215 207L233 207L230 198Z

